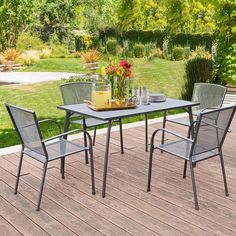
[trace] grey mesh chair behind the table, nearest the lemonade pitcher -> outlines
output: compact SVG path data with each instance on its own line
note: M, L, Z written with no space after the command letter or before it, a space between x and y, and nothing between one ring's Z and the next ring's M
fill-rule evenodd
M92 82L73 82L73 83L62 84L60 86L60 90L64 105L79 104L79 103L84 103L84 100L91 100L92 85L93 85ZM74 117L79 118L81 116L78 114L74 114L73 116L71 116L71 118ZM71 120L70 123L84 125L83 120L81 119ZM93 145L95 145L97 126L102 124L107 124L107 121L95 118L85 119L85 127L83 127L84 130L94 126ZM121 138L121 153L123 153L124 151L123 151L123 137L122 137L123 135L122 135L121 119L119 119L119 124L120 124L120 138ZM88 163L87 157L86 157L86 163Z

